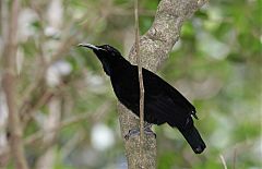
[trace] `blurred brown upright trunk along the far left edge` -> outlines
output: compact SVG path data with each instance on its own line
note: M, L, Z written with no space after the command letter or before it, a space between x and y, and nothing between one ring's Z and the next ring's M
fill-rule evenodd
M22 130L16 107L15 96L15 56L17 51L17 17L20 11L20 0L12 2L11 20L9 24L8 39L3 51L4 74L3 89L5 92L8 109L9 109L9 129L10 129L10 146L15 162L15 168L27 169L26 158L24 156L24 147L22 141Z

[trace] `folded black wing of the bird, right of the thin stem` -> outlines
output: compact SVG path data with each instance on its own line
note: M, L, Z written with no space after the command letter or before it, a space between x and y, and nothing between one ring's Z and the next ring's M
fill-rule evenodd
M143 70L145 110L156 124L184 125L195 112L194 107L171 85L156 74ZM179 123L179 124L178 124Z

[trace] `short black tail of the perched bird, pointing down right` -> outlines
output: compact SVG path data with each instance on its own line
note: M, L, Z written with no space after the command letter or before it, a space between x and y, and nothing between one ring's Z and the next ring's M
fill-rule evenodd
M205 143L194 125L188 129L179 129L179 131L182 133L183 137L187 140L195 154L201 154L205 149Z

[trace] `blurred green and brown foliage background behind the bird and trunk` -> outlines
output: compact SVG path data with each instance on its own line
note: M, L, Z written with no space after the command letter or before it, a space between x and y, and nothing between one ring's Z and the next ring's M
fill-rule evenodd
M140 1L140 31L158 0ZM0 1L0 81L10 0ZM133 1L22 0L16 102L25 154L36 169L126 169L117 99L94 53L79 43L110 44L126 57L134 41ZM159 169L262 167L262 2L218 0L187 21L157 74L196 107L207 144L194 155L168 125L155 126ZM0 166L8 160L8 110L0 86Z

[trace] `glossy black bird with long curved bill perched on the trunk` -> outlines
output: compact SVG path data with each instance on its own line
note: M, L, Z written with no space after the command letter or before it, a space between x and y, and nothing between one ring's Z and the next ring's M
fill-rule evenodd
M110 76L114 92L121 104L140 116L140 85L138 65L131 64L109 45L80 44L92 49L100 60L104 71ZM198 119L195 108L171 85L153 72L142 69L144 82L144 119L150 124L168 123L177 128L193 152L200 154L205 143L193 125Z

